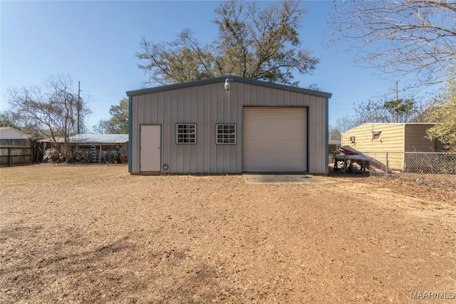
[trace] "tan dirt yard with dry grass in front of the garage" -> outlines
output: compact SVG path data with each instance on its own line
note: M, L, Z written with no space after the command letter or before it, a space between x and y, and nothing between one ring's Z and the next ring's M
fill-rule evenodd
M1 303L456 302L455 176L127 171L0 169Z

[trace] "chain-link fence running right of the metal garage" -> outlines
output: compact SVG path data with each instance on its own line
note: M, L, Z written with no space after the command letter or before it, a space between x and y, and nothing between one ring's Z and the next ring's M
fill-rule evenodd
M338 160L338 161L336 161ZM356 155L330 157L334 171L364 173L388 177L407 172L420 174L456 174L456 153L439 152L363 152Z

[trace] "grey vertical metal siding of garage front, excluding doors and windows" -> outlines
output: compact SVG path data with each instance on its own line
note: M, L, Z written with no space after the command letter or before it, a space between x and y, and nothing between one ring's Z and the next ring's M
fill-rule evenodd
M144 124L162 126L162 164L169 165L167 172L241 173L243 106L309 107L309 172L327 172L327 97L280 85L269 87L234 80L230 90L224 90L223 84L220 80L130 94L133 100L130 172L140 172L139 129ZM196 145L176 145L176 123L197 124ZM237 125L237 145L215 144L217 123Z

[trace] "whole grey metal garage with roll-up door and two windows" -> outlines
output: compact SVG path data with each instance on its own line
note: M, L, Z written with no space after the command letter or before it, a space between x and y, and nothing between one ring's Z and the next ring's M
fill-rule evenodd
M331 93L227 76L127 95L131 174L328 173Z

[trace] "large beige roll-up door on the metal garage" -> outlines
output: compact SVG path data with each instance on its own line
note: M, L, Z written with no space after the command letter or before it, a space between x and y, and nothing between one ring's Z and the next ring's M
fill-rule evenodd
M244 107L242 171L307 172L307 108Z

